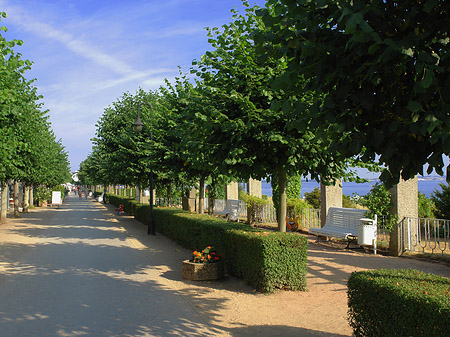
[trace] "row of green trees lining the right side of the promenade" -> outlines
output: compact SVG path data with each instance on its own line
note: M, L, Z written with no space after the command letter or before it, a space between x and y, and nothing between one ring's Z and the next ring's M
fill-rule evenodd
M406 3L244 1L244 15L208 29L212 50L193 61L195 79L180 74L105 109L81 171L93 182L148 186L152 168L161 184L195 179L200 188L207 177L213 186L269 177L281 231L291 177L357 180L350 167L374 161L388 185L425 163L442 174L450 68L439 15L449 4ZM145 127L135 134L143 102L152 109L140 106Z

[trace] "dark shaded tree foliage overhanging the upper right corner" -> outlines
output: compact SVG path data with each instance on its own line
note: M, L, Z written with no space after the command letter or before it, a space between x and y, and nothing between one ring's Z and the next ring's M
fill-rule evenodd
M443 174L442 155L450 154L450 2L268 0L266 7L258 14L270 29L255 41L271 45L259 55L287 62L273 85L322 98L298 111L293 125L330 125L330 150L341 158L380 155L389 185L422 174L426 163L428 173Z

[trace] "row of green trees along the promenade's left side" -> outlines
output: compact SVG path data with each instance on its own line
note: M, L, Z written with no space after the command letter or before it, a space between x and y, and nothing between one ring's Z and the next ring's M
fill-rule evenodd
M1 18L6 13L1 12ZM71 177L64 146L51 129L47 111L42 111L42 97L33 80L25 78L31 62L15 51L21 44L0 34L1 222L6 219L8 182L54 186Z

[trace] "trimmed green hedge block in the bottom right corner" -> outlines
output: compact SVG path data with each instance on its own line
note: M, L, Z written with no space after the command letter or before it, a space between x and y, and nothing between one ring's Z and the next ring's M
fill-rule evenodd
M347 285L355 336L449 336L450 279L380 269L354 272Z

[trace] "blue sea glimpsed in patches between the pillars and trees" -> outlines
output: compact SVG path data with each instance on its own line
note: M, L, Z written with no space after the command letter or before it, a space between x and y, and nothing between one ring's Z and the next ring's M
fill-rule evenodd
M342 183L342 194L353 196L355 194L359 196L366 195L372 187L379 182L377 179L371 179L367 183L355 183L355 182L343 182ZM441 177L426 177L418 179L418 188L419 192L425 194L427 198L431 197L431 195L435 191L441 191L441 187L439 184L447 184L444 178ZM314 188L320 187L319 183L315 180L302 180L302 190L300 193L300 197L303 197L305 193L309 193ZM272 196L272 187L270 183L266 181L262 181L262 194L267 195L269 197Z

